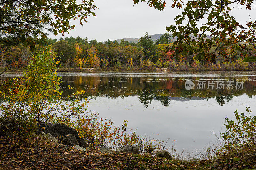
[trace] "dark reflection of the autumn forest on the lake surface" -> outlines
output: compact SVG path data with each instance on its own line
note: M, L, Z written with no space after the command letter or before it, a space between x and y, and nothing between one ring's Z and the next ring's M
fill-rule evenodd
M166 75L164 75L166 76ZM140 103L146 108L152 103L153 100L160 101L162 105L168 107L172 101L188 101L188 100L209 100L215 99L219 105L223 106L234 97L246 94L252 98L256 94L256 77L255 76L216 76L213 77L159 77L155 75L145 75L143 77L137 76L63 76L63 89L64 96L71 95L73 92L81 89L86 90L86 96L91 98L108 97L116 99L121 97L124 99L128 96L137 96ZM191 76L191 75L189 75ZM229 81L242 82L243 89L217 89L217 83L214 88L209 89L185 89L186 80L191 80L195 84L199 81L217 82L224 81L225 84ZM67 89L70 84L73 89ZM206 84L207 86L207 84Z

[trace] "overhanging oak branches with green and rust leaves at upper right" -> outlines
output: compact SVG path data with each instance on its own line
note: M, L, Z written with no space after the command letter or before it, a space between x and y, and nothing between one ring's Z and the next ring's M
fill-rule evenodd
M150 7L160 11L167 5L165 0L133 0L134 4L139 1L147 2ZM237 55L246 57L245 61L256 61L252 53L256 48L256 20L250 18L246 25L241 25L232 16L234 7L240 8L240 11L252 10L255 1L196 0L183 3L182 0L174 0L170 5L181 10L175 17L175 25L166 27L176 39L172 46L176 56L194 53L196 60L204 60L207 56L214 58L218 51L218 54L230 60L235 56L226 54L228 48L232 48L240 51ZM210 35L207 35L208 32Z

